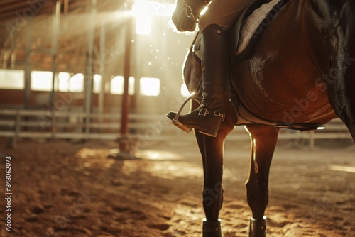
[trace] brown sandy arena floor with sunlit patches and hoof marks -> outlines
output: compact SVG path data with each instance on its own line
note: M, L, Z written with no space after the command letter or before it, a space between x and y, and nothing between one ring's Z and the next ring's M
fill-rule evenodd
M201 236L202 164L195 143L155 143L141 160L108 159L114 142L20 141L11 156L11 233L0 236ZM0 158L5 196L5 157ZM226 143L224 237L247 236L249 142ZM355 146L281 141L270 177L268 236L355 236Z

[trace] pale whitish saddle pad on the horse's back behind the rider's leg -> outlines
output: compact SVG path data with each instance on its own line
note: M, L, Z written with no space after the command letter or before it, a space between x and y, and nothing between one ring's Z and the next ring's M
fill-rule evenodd
M241 36L239 40L239 46L236 54L243 52L246 49L246 46L250 43L251 38L253 37L256 30L262 30L270 24L271 19L273 17L268 17L269 14L275 14L276 12L271 12L274 6L281 1L281 6L283 6L283 0L272 0L269 1L267 4L261 5L260 8L253 11L253 13L249 16L246 20L246 23L241 28ZM264 23L262 23L265 20ZM261 28L261 29L258 29Z

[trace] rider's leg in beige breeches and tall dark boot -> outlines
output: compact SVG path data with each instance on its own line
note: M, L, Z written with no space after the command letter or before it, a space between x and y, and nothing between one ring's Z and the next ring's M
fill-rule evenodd
M217 136L224 118L224 93L229 67L226 31L244 7L255 0L212 0L198 21L202 66L201 105L182 114L179 123L208 136ZM173 113L175 114L175 113Z

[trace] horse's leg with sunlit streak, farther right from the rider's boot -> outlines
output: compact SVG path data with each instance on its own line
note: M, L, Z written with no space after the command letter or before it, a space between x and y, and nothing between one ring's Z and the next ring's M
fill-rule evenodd
M278 140L278 128L250 125L251 163L246 181L246 199L253 217L250 220L249 237L266 236L265 209L268 205L268 176L273 152Z

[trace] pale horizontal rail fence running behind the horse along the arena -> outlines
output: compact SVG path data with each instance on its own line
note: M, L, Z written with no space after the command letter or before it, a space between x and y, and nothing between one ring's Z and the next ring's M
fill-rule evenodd
M43 111L0 109L0 137L99 139L116 140L121 137L119 114L87 114L80 111ZM129 114L129 131L132 138L145 141L194 140L194 136L172 126L165 115ZM334 119L322 131L282 130L279 139L310 140L351 139L346 126ZM238 126L228 136L228 141L248 140L244 128Z

